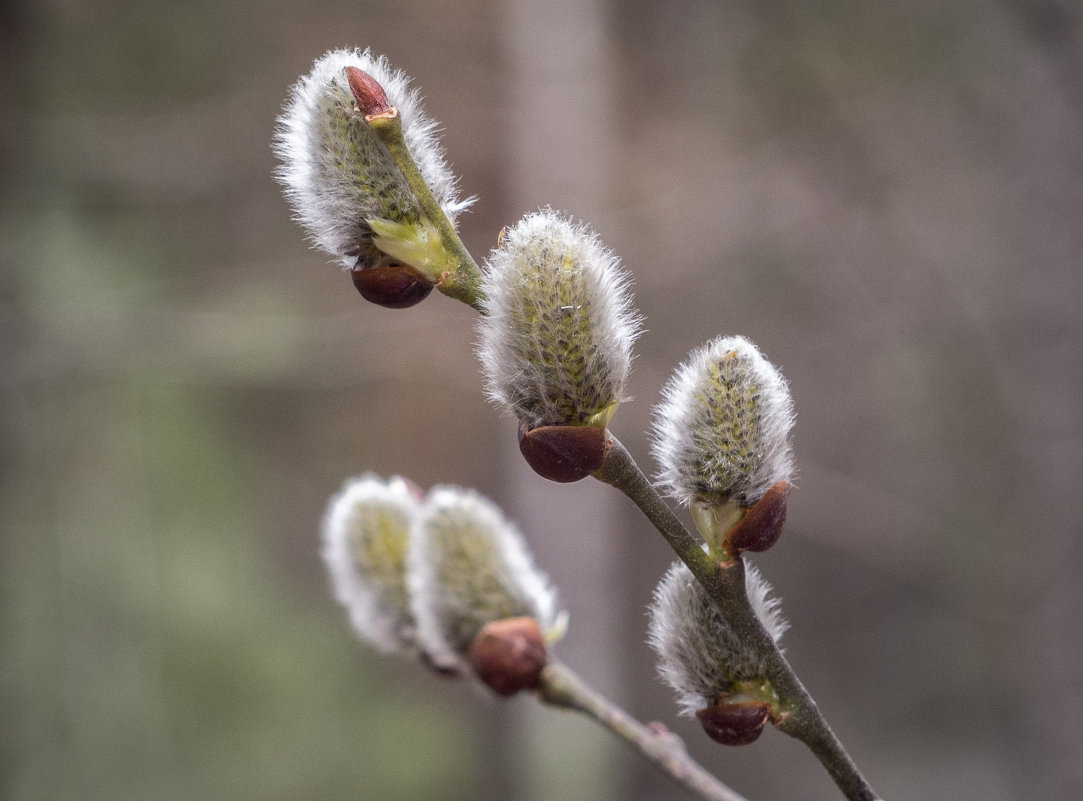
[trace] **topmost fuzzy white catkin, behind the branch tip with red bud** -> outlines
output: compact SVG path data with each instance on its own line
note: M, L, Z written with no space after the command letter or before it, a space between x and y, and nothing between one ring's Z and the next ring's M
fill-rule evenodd
M448 220L471 200L459 200L456 179L444 160L436 123L421 109L409 78L368 50L334 50L316 61L290 90L274 135L276 176L297 220L316 247L353 267L373 253L367 220L415 222L417 196L387 148L354 109L345 68L357 67L383 88L397 107L403 137Z

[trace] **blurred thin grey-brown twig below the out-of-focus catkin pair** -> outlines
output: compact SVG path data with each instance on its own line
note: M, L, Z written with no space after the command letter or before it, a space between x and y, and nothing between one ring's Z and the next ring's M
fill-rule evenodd
M546 704L573 709L592 718L699 798L705 801L746 801L689 757L684 744L675 734L644 726L587 686L564 665L550 661L543 669L538 694Z

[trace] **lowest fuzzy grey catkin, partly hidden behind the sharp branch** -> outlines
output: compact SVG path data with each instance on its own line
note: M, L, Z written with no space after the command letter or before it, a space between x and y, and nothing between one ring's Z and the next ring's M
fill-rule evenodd
M771 588L753 565L745 590L764 628L778 642L786 630ZM734 682L762 675L762 664L730 629L688 567L675 563L654 590L648 642L658 656L658 674L677 694L680 713L713 706Z

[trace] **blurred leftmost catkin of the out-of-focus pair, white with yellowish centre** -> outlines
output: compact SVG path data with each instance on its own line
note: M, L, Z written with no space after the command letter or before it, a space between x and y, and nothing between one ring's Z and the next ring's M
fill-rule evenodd
M415 648L406 555L419 512L403 478L364 475L347 482L324 514L321 553L335 598L357 633L386 653Z

